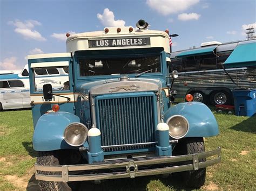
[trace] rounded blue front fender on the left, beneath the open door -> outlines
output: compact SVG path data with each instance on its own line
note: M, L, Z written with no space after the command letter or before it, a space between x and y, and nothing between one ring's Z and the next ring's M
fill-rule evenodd
M74 122L80 122L80 118L69 112L49 112L42 115L37 121L33 134L33 149L35 151L53 151L75 148L64 140L66 126Z

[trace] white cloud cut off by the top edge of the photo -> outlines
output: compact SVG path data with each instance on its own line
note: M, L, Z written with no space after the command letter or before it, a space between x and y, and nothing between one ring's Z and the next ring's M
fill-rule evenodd
M170 15L187 10L199 0L147 0L146 3L161 15Z

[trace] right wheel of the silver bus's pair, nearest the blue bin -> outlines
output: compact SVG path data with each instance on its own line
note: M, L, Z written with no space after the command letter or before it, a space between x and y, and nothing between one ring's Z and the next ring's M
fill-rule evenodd
M220 99L218 100L218 97ZM211 105L230 105L232 103L232 96L227 91L213 91L210 95Z

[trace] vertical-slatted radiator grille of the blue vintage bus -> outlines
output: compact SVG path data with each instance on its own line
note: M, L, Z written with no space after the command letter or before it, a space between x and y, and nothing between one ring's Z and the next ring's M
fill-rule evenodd
M153 96L99 99L96 114L102 146L154 142ZM104 151L149 147L152 145L104 148Z

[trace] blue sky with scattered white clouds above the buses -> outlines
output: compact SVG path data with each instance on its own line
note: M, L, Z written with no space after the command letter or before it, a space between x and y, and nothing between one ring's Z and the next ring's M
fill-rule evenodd
M256 0L0 0L0 69L23 68L29 54L65 52L66 32L136 26L139 19L179 34L172 38L178 51L245 40L246 27L256 28Z

